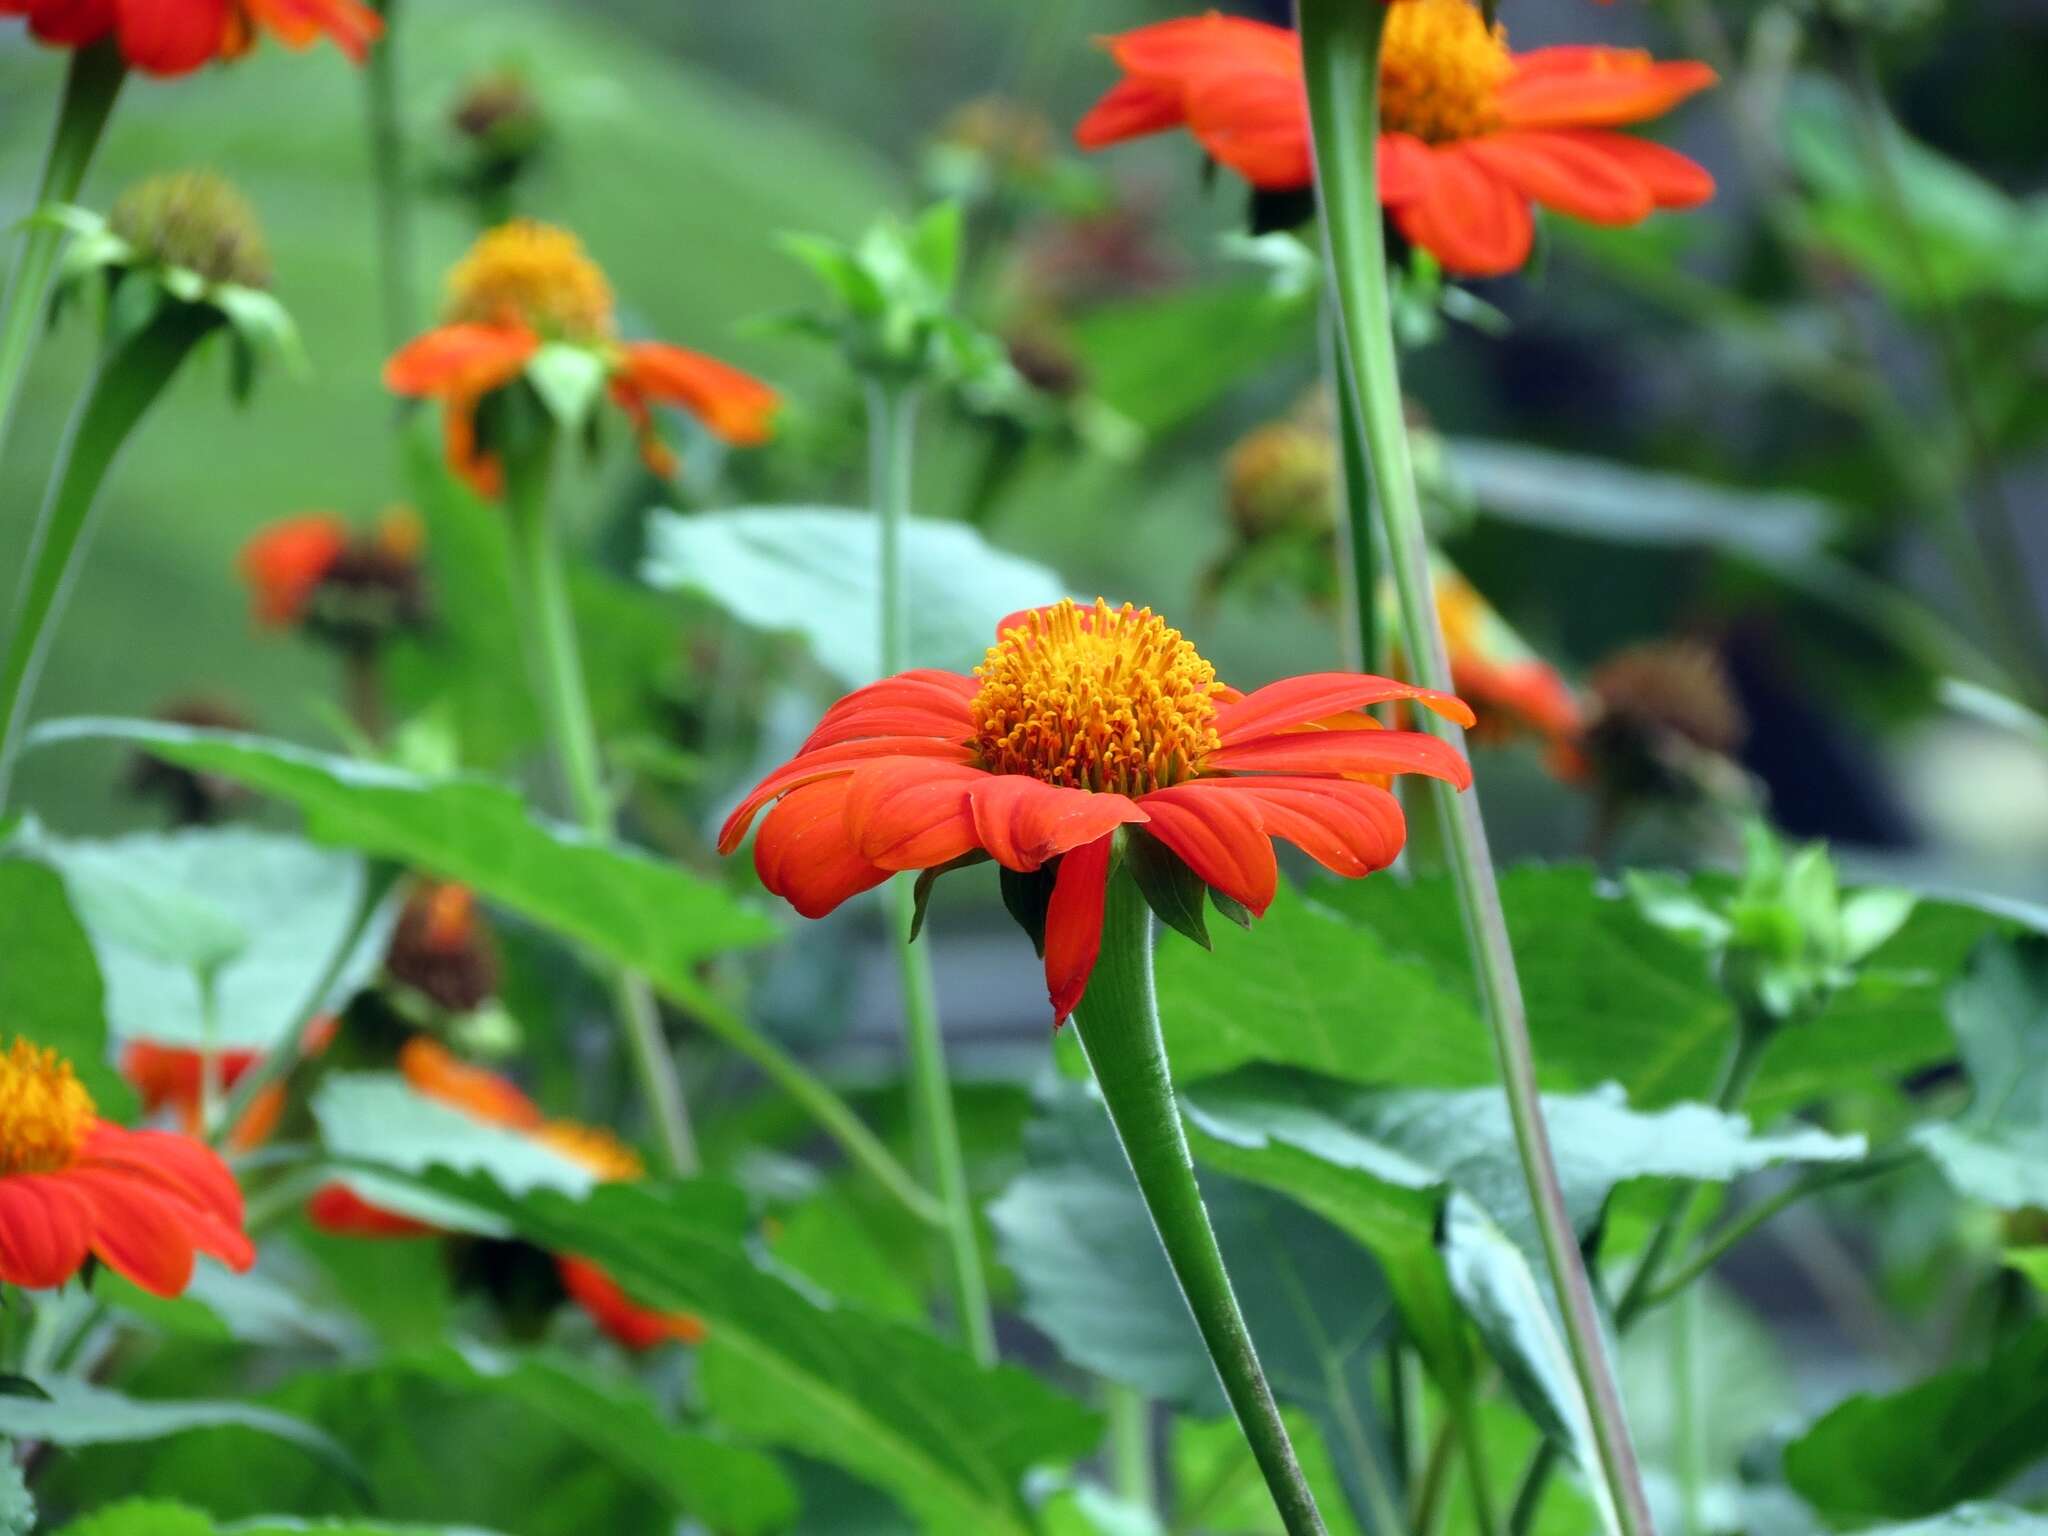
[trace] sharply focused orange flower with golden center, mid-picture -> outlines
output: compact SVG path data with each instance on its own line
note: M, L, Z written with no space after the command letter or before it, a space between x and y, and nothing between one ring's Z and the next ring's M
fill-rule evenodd
M1059 1024L1102 948L1120 829L1249 915L1278 889L1274 838L1346 877L1393 864L1407 827L1386 776L1470 784L1438 737L1360 713L1399 698L1473 723L1450 694L1350 672L1243 694L1151 608L1059 602L1006 618L973 676L905 672L842 698L719 850L772 807L754 866L805 918L899 870L993 858L1030 877Z

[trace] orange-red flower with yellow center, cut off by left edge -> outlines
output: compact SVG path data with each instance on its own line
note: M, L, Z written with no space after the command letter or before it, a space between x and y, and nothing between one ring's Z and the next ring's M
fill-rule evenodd
M227 1165L190 1137L100 1120L72 1063L14 1040L0 1057L0 1280L47 1290L96 1257L176 1296L195 1253L256 1262Z

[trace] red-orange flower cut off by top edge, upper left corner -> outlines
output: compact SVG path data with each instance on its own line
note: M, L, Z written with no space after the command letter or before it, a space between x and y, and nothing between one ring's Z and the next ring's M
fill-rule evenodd
M111 37L131 68L154 76L242 57L260 33L291 49L326 37L356 63L383 37L383 18L360 0L0 0L0 16L27 16L55 47Z

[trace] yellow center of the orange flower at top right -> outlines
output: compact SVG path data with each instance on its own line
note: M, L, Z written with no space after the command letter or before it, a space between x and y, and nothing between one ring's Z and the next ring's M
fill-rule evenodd
M1489 31L1468 0L1395 0L1380 45L1380 127L1427 143L1491 133L1511 70L1507 29Z

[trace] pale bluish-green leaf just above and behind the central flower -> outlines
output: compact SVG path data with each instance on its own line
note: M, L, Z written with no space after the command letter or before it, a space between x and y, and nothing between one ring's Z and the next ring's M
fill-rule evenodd
M874 516L756 506L655 512L641 575L700 592L743 625L801 635L834 678L881 676L881 547ZM1059 575L993 549L965 522L913 518L903 530L911 666L967 670L1018 608L1067 596Z

